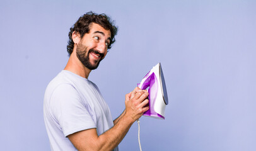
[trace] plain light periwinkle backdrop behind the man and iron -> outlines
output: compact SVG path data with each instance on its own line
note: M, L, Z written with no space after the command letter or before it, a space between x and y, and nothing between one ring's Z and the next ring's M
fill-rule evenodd
M116 118L125 94L161 62L166 120L141 118L143 150L256 150L255 1L7 1L0 4L0 150L50 150L49 81L67 62L69 28L87 11L119 26L89 79ZM137 123L120 150L139 150Z

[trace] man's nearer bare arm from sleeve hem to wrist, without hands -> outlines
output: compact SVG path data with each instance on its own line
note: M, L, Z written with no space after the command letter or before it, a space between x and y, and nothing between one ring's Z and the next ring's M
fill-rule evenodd
M131 116L123 115L112 128L100 136L97 135L96 128L92 128L73 133L67 137L79 151L113 150L125 137L134 121Z

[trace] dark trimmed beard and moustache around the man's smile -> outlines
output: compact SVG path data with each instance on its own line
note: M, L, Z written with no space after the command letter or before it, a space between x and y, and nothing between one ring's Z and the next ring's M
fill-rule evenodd
M94 64L91 64L89 54L93 52L97 55L100 55L100 60L93 60ZM78 47L76 48L76 56L80 60L80 62L84 65L84 67L94 70L97 69L98 65L100 65L100 61L103 59L103 53L98 52L97 50L90 49L83 45L82 43L78 43Z

